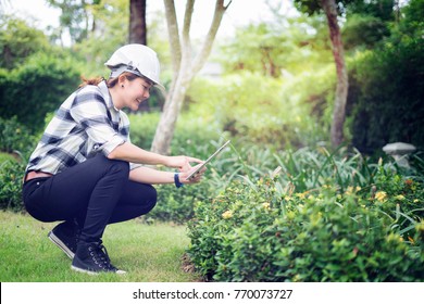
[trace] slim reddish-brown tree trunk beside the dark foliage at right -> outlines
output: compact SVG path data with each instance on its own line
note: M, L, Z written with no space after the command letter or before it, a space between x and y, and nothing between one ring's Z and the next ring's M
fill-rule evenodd
M329 38L337 71L336 97L333 110L331 129L332 145L336 148L344 141L344 125L346 118L346 102L348 98L348 72L345 64L345 51L341 42L340 28L337 24L337 4L335 0L321 0L328 22Z

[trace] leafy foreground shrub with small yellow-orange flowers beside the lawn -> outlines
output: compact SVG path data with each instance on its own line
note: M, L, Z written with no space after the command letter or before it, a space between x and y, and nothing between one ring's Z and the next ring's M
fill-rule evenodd
M354 191L280 195L265 178L200 202L188 251L199 271L219 281L420 281L422 221L414 231L413 242L403 240L391 218Z

